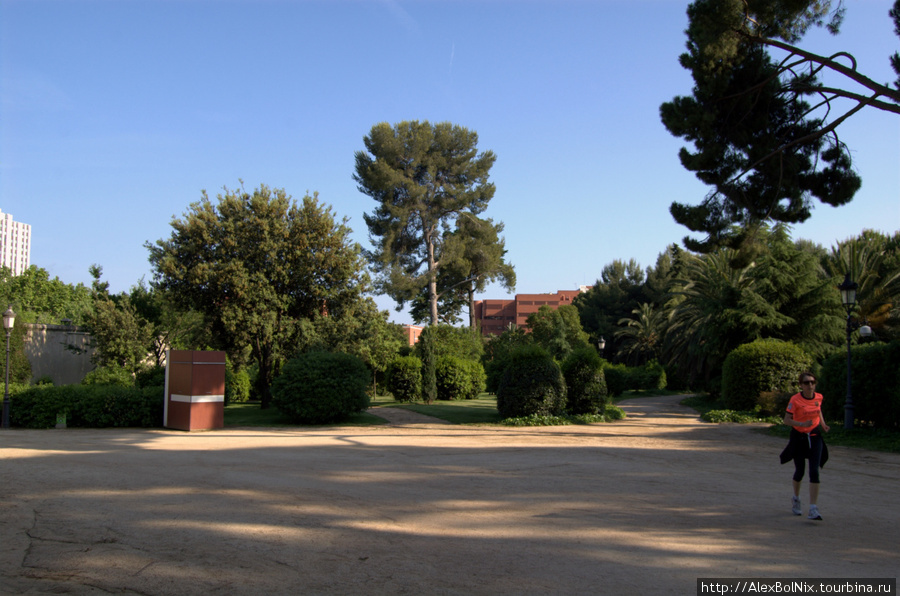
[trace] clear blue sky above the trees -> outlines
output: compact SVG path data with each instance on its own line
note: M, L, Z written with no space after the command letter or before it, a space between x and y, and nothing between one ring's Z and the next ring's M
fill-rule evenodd
M840 36L893 81L891 0L844 0ZM206 189L318 191L370 248L374 201L354 152L379 122L450 121L497 162L518 293L590 285L614 259L652 265L706 193L659 106L691 89L680 0L0 0L0 209L32 226L31 262L113 291L151 277L146 241ZM840 129L863 188L795 238L830 247L900 229L900 116ZM483 298L504 298L491 287ZM378 300L392 318L389 299Z

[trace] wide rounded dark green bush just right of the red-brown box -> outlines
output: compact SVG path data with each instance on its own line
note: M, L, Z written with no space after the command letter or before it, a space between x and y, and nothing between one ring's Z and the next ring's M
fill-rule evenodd
M350 354L308 352L288 360L272 382L272 405L298 424L328 424L369 407L371 376Z

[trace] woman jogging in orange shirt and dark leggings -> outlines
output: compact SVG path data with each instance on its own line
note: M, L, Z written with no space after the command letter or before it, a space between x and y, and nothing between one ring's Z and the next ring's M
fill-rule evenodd
M827 448L822 440L822 433L829 428L822 419L822 394L816 393L816 377L812 373L800 373L800 393L791 397L788 402L784 423L791 427L791 438L782 453L781 462L794 460L794 496L791 498L791 511L801 515L800 481L809 460L809 515L808 519L821 520L816 501L819 497L819 468L828 459Z

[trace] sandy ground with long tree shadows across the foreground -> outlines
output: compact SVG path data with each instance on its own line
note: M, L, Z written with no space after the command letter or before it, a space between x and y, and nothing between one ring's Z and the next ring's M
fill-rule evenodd
M831 447L813 522L790 512L781 439L677 402L552 428L385 410L392 424L370 428L6 431L0 593L695 594L699 577L897 577L900 456Z

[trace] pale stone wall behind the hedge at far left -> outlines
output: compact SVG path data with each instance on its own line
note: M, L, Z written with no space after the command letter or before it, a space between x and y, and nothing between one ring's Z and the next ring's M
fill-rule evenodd
M25 356L31 378L53 379L54 385L81 383L93 370L90 335L73 325L25 325Z

